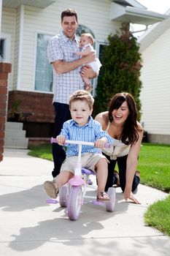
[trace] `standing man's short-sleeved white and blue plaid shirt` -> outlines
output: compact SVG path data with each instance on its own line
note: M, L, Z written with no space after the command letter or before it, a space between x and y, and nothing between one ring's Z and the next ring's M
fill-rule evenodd
M75 61L80 58L75 55L79 50L77 39L69 39L62 31L61 34L50 39L47 47L47 57L50 63L58 60ZM53 102L69 104L69 96L74 91L84 89L80 71L81 67L62 74L57 74L53 70Z

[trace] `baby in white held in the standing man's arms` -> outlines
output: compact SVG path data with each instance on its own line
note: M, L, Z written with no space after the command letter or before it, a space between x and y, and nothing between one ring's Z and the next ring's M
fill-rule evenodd
M85 33L82 34L80 37L80 52L77 52L77 56L87 56L91 52L96 53L96 50L93 48L94 39L91 34ZM101 67L101 62L98 58L96 58L93 62L90 62L88 65L93 69L94 72L99 72ZM82 77L83 81L85 82L85 90L90 91L90 79Z

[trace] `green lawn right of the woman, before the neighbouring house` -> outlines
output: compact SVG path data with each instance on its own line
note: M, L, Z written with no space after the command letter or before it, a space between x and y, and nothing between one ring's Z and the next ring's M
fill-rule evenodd
M142 184L170 192L170 146L142 143L137 169Z

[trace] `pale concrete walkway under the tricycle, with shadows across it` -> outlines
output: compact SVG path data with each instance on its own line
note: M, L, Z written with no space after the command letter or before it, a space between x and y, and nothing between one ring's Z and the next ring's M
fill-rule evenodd
M94 206L96 185L88 187L80 218L48 205L42 184L51 179L53 162L29 157L27 150L5 148L0 162L0 255L117 256L169 255L170 238L144 224L144 212L166 193L139 185L135 205L116 190L115 211ZM95 178L94 180L95 181ZM95 183L95 182L94 182Z

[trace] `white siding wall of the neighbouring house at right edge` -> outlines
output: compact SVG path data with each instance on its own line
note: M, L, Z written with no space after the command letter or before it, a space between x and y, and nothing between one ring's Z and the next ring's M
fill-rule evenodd
M142 121L150 134L170 135L170 29L142 52Z

